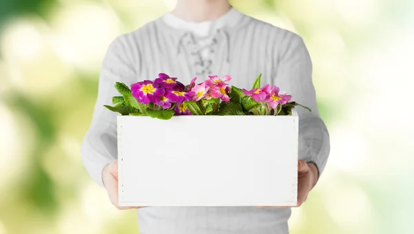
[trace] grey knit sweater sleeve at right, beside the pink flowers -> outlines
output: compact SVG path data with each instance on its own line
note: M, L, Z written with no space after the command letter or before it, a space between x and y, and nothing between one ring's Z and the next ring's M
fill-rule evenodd
M278 56L276 83L282 91L293 96L293 101L312 110L310 112L303 107L297 107L299 159L313 162L320 176L328 160L330 140L328 129L317 109L311 57L304 41L297 34L289 33L282 45L284 50Z

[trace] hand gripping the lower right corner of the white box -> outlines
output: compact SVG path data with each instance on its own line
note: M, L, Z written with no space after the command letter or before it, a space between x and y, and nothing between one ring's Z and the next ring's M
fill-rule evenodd
M309 192L315 187L317 182L317 168L315 164L304 160L299 160L297 165L297 206L258 206L259 208L265 207L277 207L277 208L288 208L288 207L299 207L308 198Z

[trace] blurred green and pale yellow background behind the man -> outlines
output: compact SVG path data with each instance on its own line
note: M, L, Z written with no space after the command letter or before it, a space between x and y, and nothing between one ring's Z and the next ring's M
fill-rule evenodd
M300 34L331 156L298 233L414 233L414 1L233 0ZM175 0L0 0L0 234L137 233L79 147L109 43Z

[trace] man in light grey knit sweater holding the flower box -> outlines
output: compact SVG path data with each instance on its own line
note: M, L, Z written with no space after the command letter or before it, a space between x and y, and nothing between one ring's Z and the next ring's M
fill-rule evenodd
M178 0L172 12L119 36L103 60L97 103L81 150L88 173L108 191L112 204L117 206L117 114L103 105L118 95L113 87L116 81L130 85L160 72L182 83L194 76L202 80L230 74L230 85L237 87L250 87L262 73L263 83L281 87L293 100L310 107L312 112L297 109L298 206L306 201L328 159L329 136L319 118L304 41L293 32L238 12L228 1ZM137 209L144 234L285 234L291 212L290 208L252 206L129 208Z

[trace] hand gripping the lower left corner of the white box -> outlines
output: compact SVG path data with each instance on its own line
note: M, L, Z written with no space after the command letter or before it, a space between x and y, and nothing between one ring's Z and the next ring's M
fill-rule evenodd
M102 170L102 181L108 192L109 200L119 210L138 209L145 206L119 206L118 205L118 160L106 164Z

